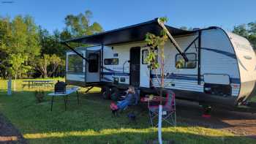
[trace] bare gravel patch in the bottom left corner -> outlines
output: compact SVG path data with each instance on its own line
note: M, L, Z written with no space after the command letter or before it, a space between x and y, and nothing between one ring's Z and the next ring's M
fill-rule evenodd
M18 129L16 129L9 121L7 121L6 118L4 118L3 115L0 114L0 144L1 143L26 144L26 140L23 138L22 134L18 132Z

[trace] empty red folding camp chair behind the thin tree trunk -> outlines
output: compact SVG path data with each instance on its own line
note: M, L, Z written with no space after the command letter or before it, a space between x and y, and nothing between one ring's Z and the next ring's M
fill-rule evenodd
M170 90L165 92L166 100L165 105L162 105L162 121L167 122L167 124L173 124L174 126L176 126L175 94ZM159 105L151 105L150 99L148 99L148 113L151 125L154 126L154 118L158 118L159 115Z

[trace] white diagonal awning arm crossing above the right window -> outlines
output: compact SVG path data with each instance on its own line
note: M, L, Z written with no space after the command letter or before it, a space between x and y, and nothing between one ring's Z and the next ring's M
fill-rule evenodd
M181 54L181 56L184 58L185 61L189 61L189 59L187 58L186 54L182 52L181 48L178 46L178 43L176 42L176 40L173 38L173 36L170 34L170 32L167 30L167 28L165 27L164 23L161 23L161 21L159 20L159 18L157 18L157 23L159 24L160 27L162 27L162 29L166 32L167 37L170 39L170 42L173 43L174 47L176 48L176 50L178 50L178 53Z

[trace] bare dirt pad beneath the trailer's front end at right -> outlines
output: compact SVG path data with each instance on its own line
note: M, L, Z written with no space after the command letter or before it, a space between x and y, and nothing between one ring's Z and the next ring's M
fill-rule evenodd
M224 129L233 134L256 138L256 114L213 109L211 118L203 118L203 108L196 102L177 100L177 115L193 126Z

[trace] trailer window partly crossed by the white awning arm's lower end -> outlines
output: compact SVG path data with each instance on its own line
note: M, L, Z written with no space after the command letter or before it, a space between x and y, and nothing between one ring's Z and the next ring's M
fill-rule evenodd
M197 55L195 53L186 53L189 61L185 61L181 54L176 55L176 68L177 69L195 69L197 67Z

